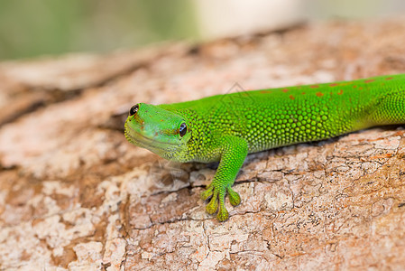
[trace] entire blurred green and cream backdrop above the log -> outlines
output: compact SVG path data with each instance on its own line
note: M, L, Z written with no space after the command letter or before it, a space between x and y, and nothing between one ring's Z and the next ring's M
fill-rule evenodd
M265 1L268 1L265 3ZM254 2L254 3L253 3ZM164 40L201 39L201 21L216 29L221 19L234 23L252 3L290 15L290 21L397 16L404 0L0 0L0 60L73 51L106 52ZM222 6L219 6L221 3ZM268 5L272 3L273 7ZM278 3L278 4L277 4ZM287 4L286 4L287 3ZM281 5L289 5L279 10ZM218 10L215 11L215 5ZM282 7L282 6L281 6ZM221 10L222 9L222 10ZM235 12L222 17L226 12ZM219 11L219 12L218 12ZM239 11L239 14L237 14ZM293 12L292 12L293 11ZM284 13L284 14L282 14ZM212 14L212 18L210 15ZM219 14L219 15L218 15ZM228 14L229 15L229 14ZM276 16L265 15L269 22ZM230 19L229 19L230 18ZM246 17L246 24L252 23ZM263 18L262 18L263 19ZM241 19L242 20L242 19ZM250 20L250 21L249 21ZM225 23L226 23L225 22ZM224 22L221 22L224 24ZM278 24L274 24L276 28ZM208 35L205 35L209 37Z

